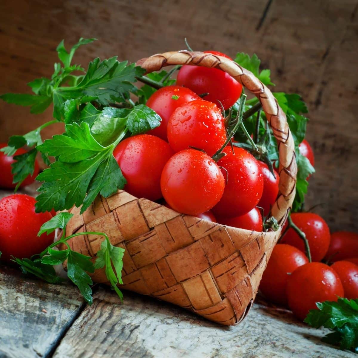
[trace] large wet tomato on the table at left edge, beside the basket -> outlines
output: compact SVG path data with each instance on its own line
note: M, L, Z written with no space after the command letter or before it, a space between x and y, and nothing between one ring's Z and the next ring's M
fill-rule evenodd
M2 260L11 256L30 258L53 243L55 233L37 233L52 218L49 212L35 213L35 198L13 194L0 200L0 251Z

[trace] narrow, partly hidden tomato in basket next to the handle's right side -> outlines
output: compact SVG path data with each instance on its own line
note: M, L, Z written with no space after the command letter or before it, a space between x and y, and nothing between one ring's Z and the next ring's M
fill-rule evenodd
M263 176L263 192L258 206L263 208L265 216L269 214L272 205L275 203L277 194L279 193L279 181L280 177L277 171L274 169L275 176L272 175L267 164L262 161L258 161L261 167L261 173Z

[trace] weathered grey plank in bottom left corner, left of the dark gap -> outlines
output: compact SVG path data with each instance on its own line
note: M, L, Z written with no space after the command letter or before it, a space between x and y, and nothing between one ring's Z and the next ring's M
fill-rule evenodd
M83 305L77 287L0 265L0 357L47 356Z

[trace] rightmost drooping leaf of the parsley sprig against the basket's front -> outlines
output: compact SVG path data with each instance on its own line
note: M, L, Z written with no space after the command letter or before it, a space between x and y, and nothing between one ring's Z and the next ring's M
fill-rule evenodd
M115 290L117 295L123 300L122 292L118 289L117 284L123 284L122 269L123 269L123 255L124 249L113 246L108 237L101 243L101 250L97 252L97 260L95 262L95 269L105 267L105 272L108 281L112 285L112 290Z

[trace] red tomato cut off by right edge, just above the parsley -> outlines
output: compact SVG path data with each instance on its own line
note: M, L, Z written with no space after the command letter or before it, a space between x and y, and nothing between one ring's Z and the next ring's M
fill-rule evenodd
M342 281L344 297L358 299L358 266L349 261L336 261L331 267Z

